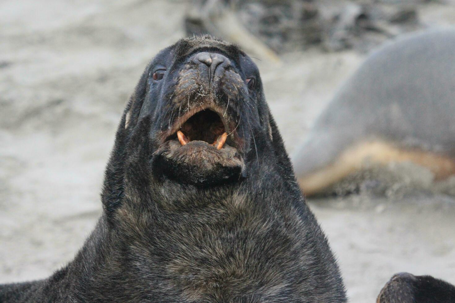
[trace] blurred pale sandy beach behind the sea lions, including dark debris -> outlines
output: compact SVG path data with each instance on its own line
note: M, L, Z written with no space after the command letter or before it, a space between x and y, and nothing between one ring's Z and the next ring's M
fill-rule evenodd
M371 50L452 24L449 0L0 1L0 283L73 258L121 111L179 38L208 32L255 57L291 153ZM308 199L351 302L375 302L396 272L455 283L455 198L397 188Z

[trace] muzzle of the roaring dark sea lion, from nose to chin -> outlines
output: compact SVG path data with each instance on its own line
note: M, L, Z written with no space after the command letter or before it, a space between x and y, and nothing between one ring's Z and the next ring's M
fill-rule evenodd
M249 119L242 108L249 81L221 53L196 52L179 67L163 79L173 85L157 119L164 127L155 132L154 174L203 186L240 179L245 138L238 127Z

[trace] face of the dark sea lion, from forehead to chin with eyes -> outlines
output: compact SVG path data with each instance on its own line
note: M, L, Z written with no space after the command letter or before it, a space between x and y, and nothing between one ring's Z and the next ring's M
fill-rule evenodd
M268 127L258 68L241 50L209 37L180 40L149 64L136 99L140 89L131 113L148 128L154 178L204 187L247 175L253 130Z

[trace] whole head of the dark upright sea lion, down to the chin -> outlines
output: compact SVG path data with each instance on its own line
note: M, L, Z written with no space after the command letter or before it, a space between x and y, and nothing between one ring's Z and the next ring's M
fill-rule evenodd
M255 163L270 160L274 143L287 159L281 138L273 143L273 131L278 136L250 57L210 36L182 39L159 52L142 74L106 176L123 174L137 190L151 183L162 191L235 184Z

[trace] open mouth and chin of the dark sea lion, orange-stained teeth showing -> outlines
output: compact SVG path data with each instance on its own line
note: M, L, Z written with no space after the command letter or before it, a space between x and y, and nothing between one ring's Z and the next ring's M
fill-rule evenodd
M239 179L244 165L236 125L220 110L197 110L177 119L165 132L171 135L153 154L154 171L182 183L204 186Z

